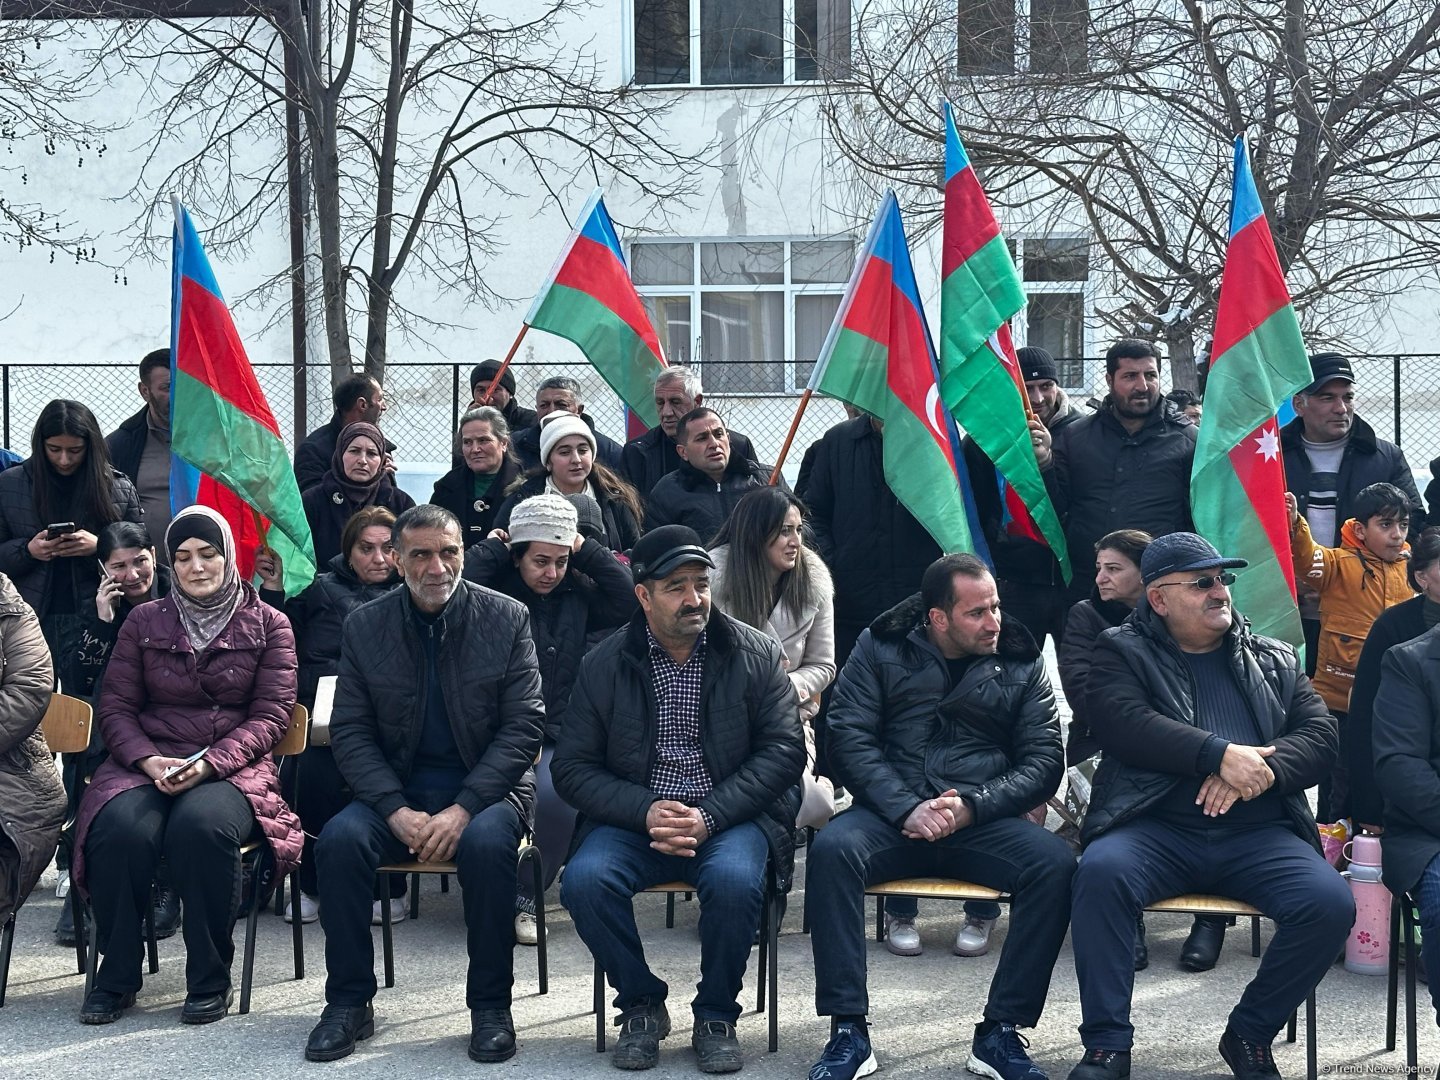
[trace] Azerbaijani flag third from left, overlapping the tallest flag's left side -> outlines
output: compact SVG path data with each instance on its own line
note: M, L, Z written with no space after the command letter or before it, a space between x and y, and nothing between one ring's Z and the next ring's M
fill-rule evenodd
M900 206L887 192L821 347L811 390L884 420L886 482L945 552L989 562L963 481Z

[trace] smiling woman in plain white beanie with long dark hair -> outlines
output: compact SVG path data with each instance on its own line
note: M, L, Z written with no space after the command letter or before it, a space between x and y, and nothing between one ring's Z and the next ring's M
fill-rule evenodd
M495 528L508 531L510 516L523 500L541 492L585 494L600 507L605 540L612 552L628 552L639 539L639 495L629 484L595 459L595 432L575 413L554 412L540 422L540 468L511 485L495 516Z

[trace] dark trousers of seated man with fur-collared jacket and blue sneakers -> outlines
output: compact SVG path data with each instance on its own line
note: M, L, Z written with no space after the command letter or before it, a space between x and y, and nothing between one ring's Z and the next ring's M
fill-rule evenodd
M937 841L906 840L864 806L815 835L805 896L815 953L815 1011L863 1017L865 886L897 877L959 877L1014 896L1009 933L991 981L985 1018L1034 1027L1070 922L1074 855L1063 840L1024 818L1002 818Z

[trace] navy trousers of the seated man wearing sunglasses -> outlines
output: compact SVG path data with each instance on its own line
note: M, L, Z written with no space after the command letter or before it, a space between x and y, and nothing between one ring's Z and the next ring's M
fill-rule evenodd
M1345 880L1286 825L1120 825L1084 850L1074 880L1070 940L1087 1050L1130 1048L1135 919L1182 893L1243 900L1274 920L1260 969L1230 1014L1231 1031L1264 1045L1325 978L1355 922Z

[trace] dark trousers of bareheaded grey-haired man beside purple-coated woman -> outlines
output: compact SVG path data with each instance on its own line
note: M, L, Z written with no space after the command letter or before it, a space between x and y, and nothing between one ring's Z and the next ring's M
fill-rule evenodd
M436 814L451 796L410 799L413 809ZM455 876L465 906L469 973L465 1004L472 1009L510 1008L516 952L516 857L520 812L495 802L461 832ZM372 806L351 802L315 844L320 864L320 924L325 930L325 1001L364 1005L374 996L374 939L370 935L370 888L386 863L413 857Z

